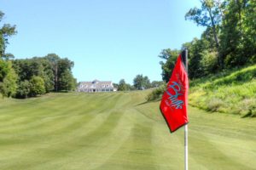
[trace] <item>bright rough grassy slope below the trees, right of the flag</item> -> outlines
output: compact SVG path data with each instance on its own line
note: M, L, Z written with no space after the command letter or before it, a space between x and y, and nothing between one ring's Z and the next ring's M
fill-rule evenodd
M256 65L191 82L189 104L207 111L256 116Z

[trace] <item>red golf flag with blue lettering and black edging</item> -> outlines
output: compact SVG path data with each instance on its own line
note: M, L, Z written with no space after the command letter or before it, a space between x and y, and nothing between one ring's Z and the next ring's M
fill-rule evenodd
M160 103L160 111L165 117L171 133L189 122L187 116L189 78L182 55L177 57L172 77L167 84Z

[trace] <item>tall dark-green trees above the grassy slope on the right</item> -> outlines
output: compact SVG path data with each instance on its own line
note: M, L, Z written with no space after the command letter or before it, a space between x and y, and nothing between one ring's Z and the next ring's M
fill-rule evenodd
M189 50L189 78L206 77L224 69L256 63L256 1L201 0L185 20L205 26L201 38L183 43ZM162 78L168 82L180 50L163 49Z

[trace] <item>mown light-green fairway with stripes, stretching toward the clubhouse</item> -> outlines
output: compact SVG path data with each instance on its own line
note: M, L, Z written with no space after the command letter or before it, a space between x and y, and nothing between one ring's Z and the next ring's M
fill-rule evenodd
M0 99L0 169L183 169L148 92ZM189 169L256 169L256 119L189 107Z

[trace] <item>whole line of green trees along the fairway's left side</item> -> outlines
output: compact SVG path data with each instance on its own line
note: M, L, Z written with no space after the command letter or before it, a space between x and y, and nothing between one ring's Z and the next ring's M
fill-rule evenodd
M3 19L0 11L0 21ZM17 33L16 27L4 24L0 29L0 93L3 97L25 99L52 91L70 91L76 88L73 61L57 54L32 59L14 59L6 54L8 39Z

